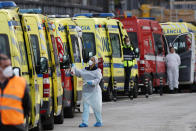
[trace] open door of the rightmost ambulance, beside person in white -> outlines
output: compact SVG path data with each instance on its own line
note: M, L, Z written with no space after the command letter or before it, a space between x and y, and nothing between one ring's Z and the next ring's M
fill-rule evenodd
M173 41L176 53L179 54L181 65L179 67L179 82L192 84L195 66L195 37L193 33L184 33Z

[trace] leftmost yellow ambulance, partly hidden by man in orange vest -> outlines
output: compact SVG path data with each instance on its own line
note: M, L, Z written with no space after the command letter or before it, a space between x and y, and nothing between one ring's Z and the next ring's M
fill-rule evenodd
M41 130L40 95L35 68L29 52L24 44L23 30L18 15L18 7L14 2L0 2L0 53L11 58L15 75L24 77L27 81L32 100L31 116L26 116L29 129ZM4 9L5 8L5 9Z

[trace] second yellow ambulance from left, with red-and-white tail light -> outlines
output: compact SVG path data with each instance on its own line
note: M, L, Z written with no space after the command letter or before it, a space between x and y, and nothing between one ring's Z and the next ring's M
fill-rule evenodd
M39 10L22 12L22 24L26 41L33 52L35 70L41 88L41 122L44 129L53 129L54 123L63 123L63 89L57 47L51 42L47 18ZM37 14L36 14L37 13Z

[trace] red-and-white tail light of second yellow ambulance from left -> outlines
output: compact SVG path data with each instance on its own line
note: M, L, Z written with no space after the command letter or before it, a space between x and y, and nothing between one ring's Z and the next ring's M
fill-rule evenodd
M50 80L49 80L49 74L43 75L43 97L49 97L50 96Z

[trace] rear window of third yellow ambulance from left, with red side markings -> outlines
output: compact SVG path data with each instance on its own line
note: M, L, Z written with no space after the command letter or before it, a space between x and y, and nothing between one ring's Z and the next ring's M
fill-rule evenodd
M80 47L79 47L78 39L75 35L71 35L71 42L72 42L72 48L74 53L74 61L81 62Z

